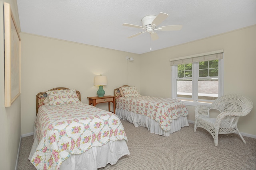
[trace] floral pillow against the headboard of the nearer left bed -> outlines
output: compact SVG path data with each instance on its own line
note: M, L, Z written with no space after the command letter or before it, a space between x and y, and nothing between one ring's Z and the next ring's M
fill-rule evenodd
M75 89L46 91L50 106L80 103Z

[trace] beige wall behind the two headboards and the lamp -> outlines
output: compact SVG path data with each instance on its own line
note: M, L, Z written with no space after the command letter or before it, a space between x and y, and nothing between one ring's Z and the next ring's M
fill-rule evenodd
M82 102L97 96L94 76L107 76L105 95L128 84L140 88L139 55L21 33L22 38L22 134L33 132L36 94L55 87L75 88ZM126 56L134 61L127 61ZM129 76L127 78L127 76ZM98 104L108 109L107 104Z

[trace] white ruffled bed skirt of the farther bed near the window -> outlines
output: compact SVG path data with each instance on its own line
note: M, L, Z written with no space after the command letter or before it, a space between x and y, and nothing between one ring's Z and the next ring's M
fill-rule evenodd
M186 116L180 116L178 119L173 119L171 123L171 129L169 131L164 131L157 121L150 119L147 116L117 108L116 115L122 120L126 120L130 123L133 123L135 127L146 127L148 128L150 133L155 133L164 136L170 136L170 134L176 131L180 131L182 127L189 126L188 119Z

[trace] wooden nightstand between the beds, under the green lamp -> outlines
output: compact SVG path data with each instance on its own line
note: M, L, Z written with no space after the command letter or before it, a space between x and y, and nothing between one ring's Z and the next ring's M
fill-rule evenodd
M114 114L116 114L116 96L88 97L89 105L96 106L99 103L108 102L108 111L110 111L110 102L114 105Z

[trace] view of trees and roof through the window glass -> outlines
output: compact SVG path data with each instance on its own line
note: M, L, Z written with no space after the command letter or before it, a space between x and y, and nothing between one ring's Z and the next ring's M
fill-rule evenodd
M193 63L178 64L177 96L192 98ZM215 100L218 98L218 60L199 62L198 99Z

